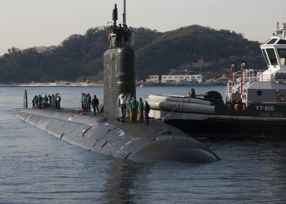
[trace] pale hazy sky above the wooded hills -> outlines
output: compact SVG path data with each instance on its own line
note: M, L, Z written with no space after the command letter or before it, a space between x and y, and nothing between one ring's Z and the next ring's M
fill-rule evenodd
M59 45L72 34L112 21L117 4L122 23L123 0L0 0L0 55L15 46ZM285 21L282 0L126 0L126 24L159 32L202 25L243 33L251 41L265 42ZM136 33L134 33L136 43Z

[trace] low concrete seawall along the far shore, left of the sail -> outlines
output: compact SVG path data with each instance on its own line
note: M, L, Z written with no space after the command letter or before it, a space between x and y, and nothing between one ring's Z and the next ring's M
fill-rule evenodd
M102 83L0 83L0 86L103 86Z

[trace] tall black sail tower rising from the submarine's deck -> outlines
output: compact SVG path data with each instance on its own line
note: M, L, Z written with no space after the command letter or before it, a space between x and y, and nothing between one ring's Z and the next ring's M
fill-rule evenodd
M118 107L122 93L136 96L135 50L130 46L109 49L104 53L104 115L122 116Z

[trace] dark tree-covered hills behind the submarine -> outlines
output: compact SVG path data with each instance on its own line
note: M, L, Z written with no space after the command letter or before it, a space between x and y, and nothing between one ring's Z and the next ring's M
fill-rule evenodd
M136 78L167 74L170 69L188 67L199 71L228 74L227 65L247 61L246 69L266 69L260 43L242 33L190 25L160 33L134 28ZM73 34L60 45L12 47L0 56L0 82L53 82L103 80L103 54L109 49L106 27L90 28L84 35ZM238 71L236 68L235 71Z

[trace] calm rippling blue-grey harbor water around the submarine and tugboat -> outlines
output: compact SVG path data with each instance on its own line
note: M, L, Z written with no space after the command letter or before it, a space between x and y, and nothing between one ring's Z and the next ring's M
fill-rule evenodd
M134 163L86 151L15 117L25 89L28 107L36 94L60 93L64 108L79 109L82 92L103 102L103 87L0 87L0 203L286 203L285 137L196 138L221 158L213 164ZM188 89L138 87L137 98ZM226 86L194 89L224 97Z

